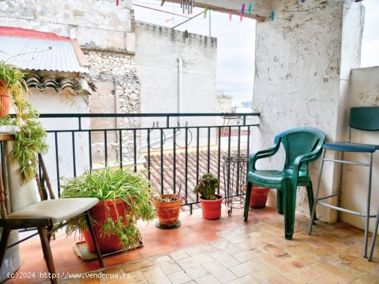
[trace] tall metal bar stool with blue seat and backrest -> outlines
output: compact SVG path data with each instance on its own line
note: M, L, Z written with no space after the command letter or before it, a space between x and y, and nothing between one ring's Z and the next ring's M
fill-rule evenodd
M365 131L378 131L379 130L379 107L352 107L350 109L349 115L349 142L331 142L325 143L322 148L322 160L320 164L320 173L318 173L318 184L316 188L316 198L314 200L314 206L312 209L311 222L309 223L309 234L312 232L312 226L314 224L314 217L316 214L316 204L322 206L327 206L338 211L347 212L349 214L357 215L360 217L365 217L365 248L363 250L363 256L367 257L367 243L369 239L369 219L376 217L376 215L370 215L370 200L371 200L371 176L372 176L372 160L373 153L379 149L379 145L371 144L358 144L352 143L351 141L351 128ZM331 151L340 151L341 158L340 160L327 159L325 158L325 152L327 150ZM345 152L355 152L355 153L369 153L369 162L355 162L344 160ZM318 197L318 192L320 189L320 180L322 174L322 167L324 162L338 162L340 163L340 178L338 185L338 193L327 195L324 197ZM348 210L341 207L341 197L342 197L342 173L343 173L343 164L354 164L358 166L368 166L369 167L369 180L367 185L367 203L366 203L366 212L356 212L353 210ZM327 204L321 200L327 199L330 197L338 196L338 206ZM338 221L340 221L340 215L338 214Z

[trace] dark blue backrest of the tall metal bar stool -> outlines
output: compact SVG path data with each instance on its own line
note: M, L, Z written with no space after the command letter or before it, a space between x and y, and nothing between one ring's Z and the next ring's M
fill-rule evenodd
M360 130L379 130L379 107L351 107L349 127Z

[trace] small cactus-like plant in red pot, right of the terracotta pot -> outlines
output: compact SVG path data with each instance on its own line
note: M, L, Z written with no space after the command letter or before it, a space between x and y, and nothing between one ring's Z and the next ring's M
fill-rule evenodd
M223 197L216 194L216 188L219 187L220 180L210 173L203 175L195 186L194 193L201 195L200 202L204 219L215 220L221 217Z

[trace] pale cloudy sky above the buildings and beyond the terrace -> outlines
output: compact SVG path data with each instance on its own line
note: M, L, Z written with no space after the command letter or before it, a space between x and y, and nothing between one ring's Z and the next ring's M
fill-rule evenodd
M133 0L132 3L137 21L172 28L186 20L184 17L136 6L147 6L183 15L178 4L166 2L161 6L160 0ZM379 0L364 0L362 3L366 9L361 67L379 66ZM201 8L195 8L192 14L185 16L193 17L202 11ZM256 22L247 18L240 22L240 17L236 15L229 21L229 14L214 11L210 12L209 17L208 11L207 18L204 19L201 15L178 26L176 30L209 36L209 18L210 35L217 37L218 43L217 89L233 96L233 105L252 100Z

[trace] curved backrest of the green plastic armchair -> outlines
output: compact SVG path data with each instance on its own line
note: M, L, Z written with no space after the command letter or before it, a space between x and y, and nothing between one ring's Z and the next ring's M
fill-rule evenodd
M324 144L325 135L313 127L296 127L276 135L275 142L279 141L285 149L285 168L292 168L296 157L311 153L318 145ZM304 163L300 170L307 172L308 164Z

